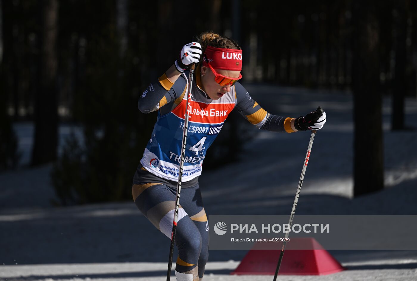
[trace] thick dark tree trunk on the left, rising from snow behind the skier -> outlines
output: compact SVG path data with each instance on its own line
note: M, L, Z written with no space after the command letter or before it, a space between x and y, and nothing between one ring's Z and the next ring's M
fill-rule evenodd
M32 165L55 161L58 147L57 54L58 0L42 1L39 86L35 101Z

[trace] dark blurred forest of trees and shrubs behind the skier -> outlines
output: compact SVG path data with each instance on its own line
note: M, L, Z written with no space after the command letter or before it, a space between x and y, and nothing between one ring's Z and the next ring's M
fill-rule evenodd
M417 96L416 11L407 0L0 0L0 171L19 166L13 122L30 121L31 166L55 163L60 204L131 200L156 120L138 98L213 30L242 46L243 83L352 91L355 196L377 191L382 96L392 95L392 130L407 129L404 97ZM206 169L236 160L248 139L240 119L229 117ZM84 142L68 138L58 157L62 123L80 125Z

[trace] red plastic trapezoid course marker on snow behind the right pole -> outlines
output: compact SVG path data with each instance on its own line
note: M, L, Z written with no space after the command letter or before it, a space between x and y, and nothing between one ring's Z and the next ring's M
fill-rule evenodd
M309 247L305 248L311 250L286 248L279 275L327 275L344 270L343 266L314 238L291 238L291 242L293 241L298 245L309 244ZM259 244L254 245L231 274L274 275L281 250L254 249L259 246Z

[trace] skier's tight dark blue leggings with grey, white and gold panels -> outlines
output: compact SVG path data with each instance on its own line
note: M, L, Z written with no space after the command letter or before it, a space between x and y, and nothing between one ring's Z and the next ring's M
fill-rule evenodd
M171 239L176 188L162 183L133 181L132 196L141 213ZM208 241L208 221L198 183L181 188L175 234L178 248L175 270L187 274L183 276L191 277L188 274L192 274L193 281L201 279L208 259Z

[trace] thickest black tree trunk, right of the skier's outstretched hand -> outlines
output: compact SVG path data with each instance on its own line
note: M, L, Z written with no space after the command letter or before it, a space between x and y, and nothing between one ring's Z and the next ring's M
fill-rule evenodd
M353 3L354 196L384 187L379 21L367 1Z

